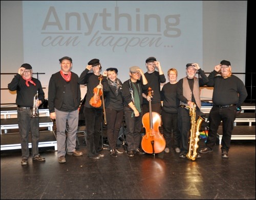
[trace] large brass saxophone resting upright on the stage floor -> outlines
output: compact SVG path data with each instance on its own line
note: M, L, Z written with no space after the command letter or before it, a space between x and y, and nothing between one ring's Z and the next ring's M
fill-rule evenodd
M198 116L198 119L196 121L196 107L197 105L193 103L193 108L190 108L190 106L184 106L189 108L189 116L190 116L190 137L189 137L189 149L188 153L186 154L186 157L188 160L196 160L197 157L197 149L198 149L198 142L199 142L199 135L200 135L200 128L203 121L205 121L204 118L201 116Z

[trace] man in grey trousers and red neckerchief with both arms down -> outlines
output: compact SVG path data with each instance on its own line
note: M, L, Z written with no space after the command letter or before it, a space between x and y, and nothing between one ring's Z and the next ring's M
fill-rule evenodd
M76 133L81 101L78 76L71 71L72 59L63 57L59 59L60 71L52 74L48 89L48 105L51 119L56 119L57 129L57 156L59 163L66 162L66 130L68 131L68 155L82 156L76 151ZM68 129L67 127L68 122Z

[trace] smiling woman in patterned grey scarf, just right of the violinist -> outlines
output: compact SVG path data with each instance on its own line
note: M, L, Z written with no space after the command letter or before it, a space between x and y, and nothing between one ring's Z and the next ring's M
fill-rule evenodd
M103 72L103 92L105 97L106 113L106 134L110 145L110 155L117 157L122 154L116 148L116 142L119 136L120 128L123 122L123 97L122 82L117 78L117 68L110 67Z

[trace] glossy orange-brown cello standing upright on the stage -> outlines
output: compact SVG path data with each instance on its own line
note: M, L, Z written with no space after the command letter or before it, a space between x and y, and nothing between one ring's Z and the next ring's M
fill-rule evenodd
M152 88L148 88L148 95L152 98ZM152 112L151 99L149 101L149 111L142 117L143 128L145 128L145 135L141 140L141 147L144 152L148 154L157 154L164 151L165 139L159 132L161 126L161 116L157 112Z

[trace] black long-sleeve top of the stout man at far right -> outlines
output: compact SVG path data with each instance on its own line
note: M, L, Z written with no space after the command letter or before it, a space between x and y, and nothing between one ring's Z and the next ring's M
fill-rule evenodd
M209 76L207 86L214 87L212 102L217 106L226 106L236 104L242 105L247 97L247 91L244 83L233 74L224 79L222 76L216 76L217 71L212 71Z

